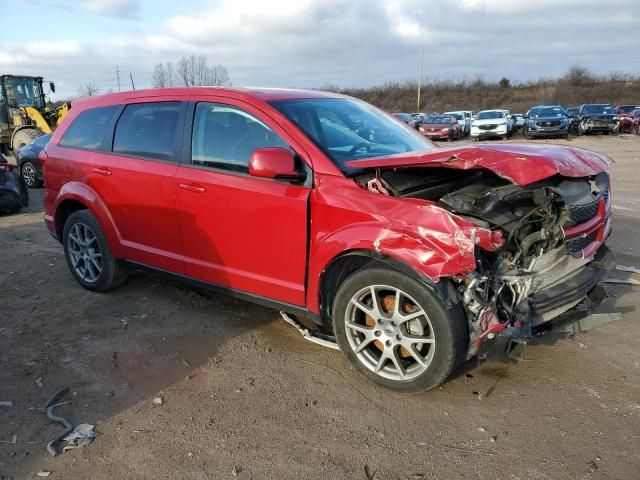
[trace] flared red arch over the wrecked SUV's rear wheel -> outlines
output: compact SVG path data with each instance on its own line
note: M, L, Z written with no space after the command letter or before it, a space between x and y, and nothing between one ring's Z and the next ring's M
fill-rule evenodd
M80 182L65 183L54 202L54 222L56 227L60 226L60 214L63 211L61 206L66 201L76 201L86 206L97 218L102 227L102 231L107 238L109 249L117 257L122 256L122 236L118 231L109 210L98 196L98 194L87 184ZM64 228L64 226L61 226Z

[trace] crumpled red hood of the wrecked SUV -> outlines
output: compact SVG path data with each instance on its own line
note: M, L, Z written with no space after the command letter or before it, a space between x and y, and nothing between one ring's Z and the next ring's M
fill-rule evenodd
M517 185L553 175L587 177L607 170L613 161L601 153L563 145L480 144L347 162L351 168L447 167L483 168Z

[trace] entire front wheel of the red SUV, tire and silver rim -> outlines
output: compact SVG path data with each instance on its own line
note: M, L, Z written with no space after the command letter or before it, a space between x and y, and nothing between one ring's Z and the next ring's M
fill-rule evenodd
M372 287L381 299L376 311L382 313L376 319L370 308ZM394 310L398 291L403 304L400 312ZM362 308L369 308L370 314ZM406 308L411 310L406 313ZM394 316L389 311L394 311ZM401 320L411 313L418 313L418 317ZM418 280L384 267L358 270L340 285L333 304L333 327L340 350L356 370L373 383L403 393L420 393L441 385L464 360L469 342L459 303L445 303ZM411 341L415 339L420 341ZM422 358L422 364L414 354Z

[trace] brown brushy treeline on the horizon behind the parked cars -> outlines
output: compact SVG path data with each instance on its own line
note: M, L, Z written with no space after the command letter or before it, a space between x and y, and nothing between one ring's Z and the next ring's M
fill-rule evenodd
M325 86L323 89L360 98L390 112L506 108L524 113L536 104L560 104L568 108L583 103L640 103L640 77L619 73L597 76L579 66L571 67L560 78L517 84L507 78L497 82L478 78L423 83L420 108L417 108L417 82L385 83L372 88Z

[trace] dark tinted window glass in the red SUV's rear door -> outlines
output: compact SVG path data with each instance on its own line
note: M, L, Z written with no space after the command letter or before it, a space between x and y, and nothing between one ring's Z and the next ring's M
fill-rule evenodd
M182 102L128 105L116 125L113 152L134 157L174 160L182 106Z

